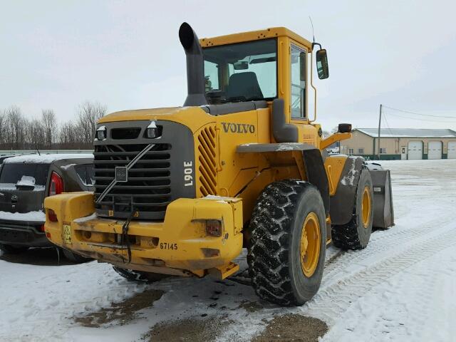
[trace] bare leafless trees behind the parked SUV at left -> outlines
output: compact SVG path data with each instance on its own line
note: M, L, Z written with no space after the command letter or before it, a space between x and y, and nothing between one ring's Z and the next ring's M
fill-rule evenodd
M106 112L105 105L86 101L73 120L59 125L52 109L41 110L39 118L26 118L16 105L0 109L0 150L91 150L96 122Z

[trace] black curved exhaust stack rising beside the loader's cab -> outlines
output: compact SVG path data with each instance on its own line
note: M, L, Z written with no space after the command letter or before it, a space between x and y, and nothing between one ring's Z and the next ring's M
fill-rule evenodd
M198 37L189 24L182 23L179 39L187 57L187 98L184 106L207 105L204 95L204 60Z

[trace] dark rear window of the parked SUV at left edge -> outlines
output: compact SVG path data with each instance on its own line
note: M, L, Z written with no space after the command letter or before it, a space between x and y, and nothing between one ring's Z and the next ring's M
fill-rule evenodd
M22 176L35 178L36 185L46 185L49 164L3 164L0 173L0 183L14 183L21 180Z

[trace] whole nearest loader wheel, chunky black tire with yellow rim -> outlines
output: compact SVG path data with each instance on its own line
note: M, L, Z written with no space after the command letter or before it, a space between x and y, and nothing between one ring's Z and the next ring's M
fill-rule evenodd
M280 305L302 305L318 291L326 254L320 192L301 180L268 185L252 213L247 261L255 292Z

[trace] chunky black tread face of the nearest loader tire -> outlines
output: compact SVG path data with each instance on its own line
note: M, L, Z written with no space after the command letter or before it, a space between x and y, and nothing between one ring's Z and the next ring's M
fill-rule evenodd
M306 187L302 180L281 180L268 185L252 212L252 240L247 255L249 274L257 295L280 305L294 305L289 277L289 234L296 202Z

